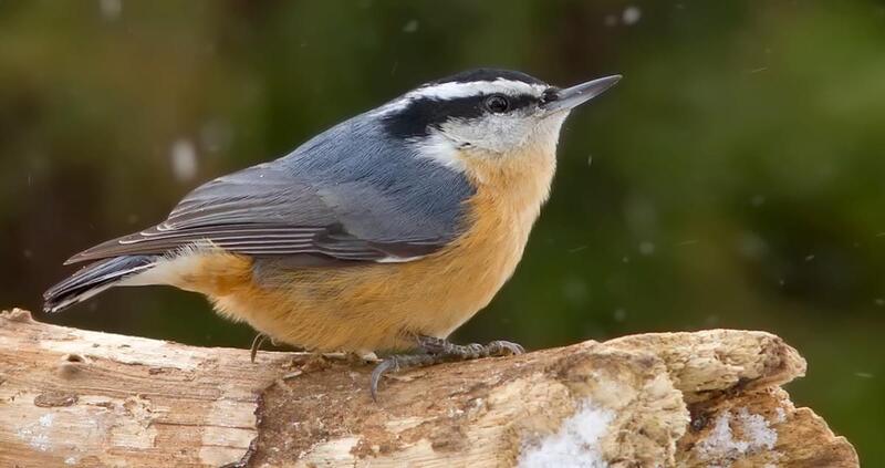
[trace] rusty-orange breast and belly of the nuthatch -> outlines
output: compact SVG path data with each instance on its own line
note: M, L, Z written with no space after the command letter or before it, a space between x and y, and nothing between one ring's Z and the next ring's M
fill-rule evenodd
M466 227L433 254L403 263L277 271L246 290L210 295L226 315L315 350L407 347L415 334L447 336L516 270L550 188L554 168L545 156L469 166L476 193L465 201Z

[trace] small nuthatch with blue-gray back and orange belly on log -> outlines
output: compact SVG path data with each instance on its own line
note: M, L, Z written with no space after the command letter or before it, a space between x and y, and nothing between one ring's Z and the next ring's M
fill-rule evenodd
M371 375L519 354L448 336L520 262L549 198L563 122L621 75L556 87L476 69L430 81L291 153L208 181L160 223L86 249L43 295L55 313L110 288L205 294L259 335L313 352L393 352ZM404 351L417 351L402 354Z

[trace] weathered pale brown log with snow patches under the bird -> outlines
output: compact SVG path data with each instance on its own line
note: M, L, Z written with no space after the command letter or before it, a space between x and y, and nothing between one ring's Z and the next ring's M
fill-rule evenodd
M856 467L764 332L653 333L405 372L0 315L0 466Z

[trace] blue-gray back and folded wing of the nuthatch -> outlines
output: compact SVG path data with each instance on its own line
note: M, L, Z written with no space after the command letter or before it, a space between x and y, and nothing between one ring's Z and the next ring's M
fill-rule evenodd
M465 228L472 186L406 144L378 145L353 121L271 163L220 177L185 197L162 223L77 253L69 263L166 254L211 243L250 256L404 261Z

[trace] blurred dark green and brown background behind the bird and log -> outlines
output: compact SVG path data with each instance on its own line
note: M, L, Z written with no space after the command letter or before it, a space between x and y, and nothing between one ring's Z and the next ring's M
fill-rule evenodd
M0 304L412 86L496 65L623 73L568 122L516 277L457 340L528 347L767 330L789 386L885 466L882 1L0 1ZM114 290L43 321L242 346L195 294Z

